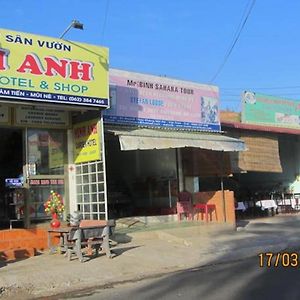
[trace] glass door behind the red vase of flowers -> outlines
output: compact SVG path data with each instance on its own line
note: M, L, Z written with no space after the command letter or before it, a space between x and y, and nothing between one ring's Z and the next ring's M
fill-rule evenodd
M28 178L28 212L32 222L50 218L44 203L50 192L67 201L65 169L67 165L67 132L63 129L27 129L26 157Z

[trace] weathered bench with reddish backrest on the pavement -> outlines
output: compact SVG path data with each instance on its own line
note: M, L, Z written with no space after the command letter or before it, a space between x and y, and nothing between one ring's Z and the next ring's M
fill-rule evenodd
M109 236L114 226L114 220L82 220L79 227L72 228L67 237L66 254L68 259L71 260L72 254L75 254L79 261L83 262L83 248L87 249L87 255L89 256L93 254L93 250L95 250L95 255L98 256L101 248L108 258L112 258Z

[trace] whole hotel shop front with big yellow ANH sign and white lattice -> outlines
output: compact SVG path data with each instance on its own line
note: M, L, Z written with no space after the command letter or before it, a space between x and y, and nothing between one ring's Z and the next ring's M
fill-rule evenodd
M79 210L107 218L101 111L108 107L108 49L0 30L0 220L2 228Z

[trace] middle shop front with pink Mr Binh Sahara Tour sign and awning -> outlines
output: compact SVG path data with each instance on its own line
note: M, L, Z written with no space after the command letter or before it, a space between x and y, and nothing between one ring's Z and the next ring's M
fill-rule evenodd
M204 163L187 171L193 149L219 153L220 166L225 152L244 150L242 141L221 133L217 87L111 69L110 99L104 112L110 216L175 214L179 192L205 190L196 183Z

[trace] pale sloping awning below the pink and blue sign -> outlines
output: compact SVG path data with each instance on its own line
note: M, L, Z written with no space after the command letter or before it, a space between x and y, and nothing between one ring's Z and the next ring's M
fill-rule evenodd
M244 151L245 144L239 139L222 134L168 131L158 129L107 130L119 137L121 150L146 150L195 147L215 151Z

